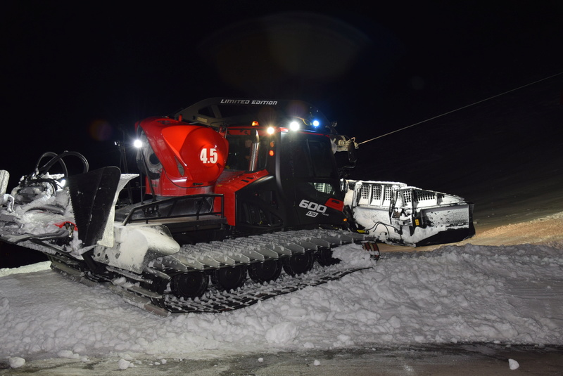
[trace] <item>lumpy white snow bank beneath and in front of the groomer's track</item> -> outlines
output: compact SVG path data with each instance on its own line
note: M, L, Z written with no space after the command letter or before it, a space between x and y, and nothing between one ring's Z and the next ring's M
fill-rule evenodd
M359 245L336 249L365 262ZM350 256L351 255L351 256ZM354 346L563 344L563 243L384 252L377 265L229 313L153 316L49 262L0 269L0 358L240 354Z

